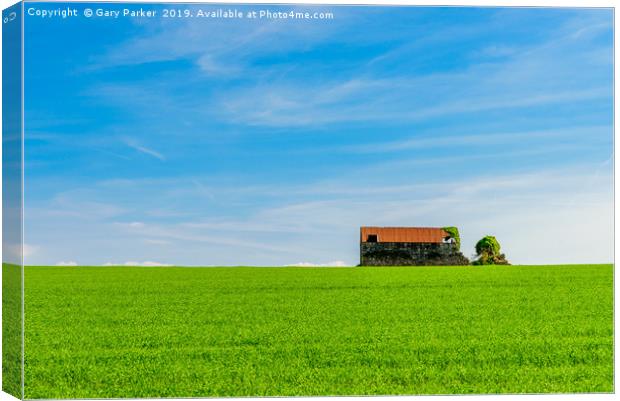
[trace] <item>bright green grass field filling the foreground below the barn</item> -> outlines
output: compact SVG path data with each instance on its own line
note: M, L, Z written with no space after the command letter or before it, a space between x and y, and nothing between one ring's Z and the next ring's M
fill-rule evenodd
M27 267L26 397L613 391L612 265Z

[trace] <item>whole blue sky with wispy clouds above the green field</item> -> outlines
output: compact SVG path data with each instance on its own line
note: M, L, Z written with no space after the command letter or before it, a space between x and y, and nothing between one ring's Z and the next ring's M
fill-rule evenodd
M334 17L25 18L26 264L613 261L611 9L228 8Z

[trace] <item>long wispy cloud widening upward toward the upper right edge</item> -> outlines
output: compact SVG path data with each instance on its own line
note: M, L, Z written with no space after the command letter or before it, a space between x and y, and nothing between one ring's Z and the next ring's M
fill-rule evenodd
M591 29L588 24L589 21L583 22L583 29ZM604 28L605 24L601 26ZM582 70L610 66L610 48L589 42L591 37L575 37L568 32L560 30L557 37L537 46L514 49L499 60L484 60L456 71L384 78L362 70L344 80L322 79L311 84L270 81L226 93L218 104L237 122L297 127L362 121L412 122L611 98L609 82L601 85L571 79ZM584 57L584 52L600 47L604 51L599 59L605 64Z

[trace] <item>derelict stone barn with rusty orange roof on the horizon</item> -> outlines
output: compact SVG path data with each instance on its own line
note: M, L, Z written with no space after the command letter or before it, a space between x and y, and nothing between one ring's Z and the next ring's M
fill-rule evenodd
M435 227L362 227L360 266L468 265L455 238Z

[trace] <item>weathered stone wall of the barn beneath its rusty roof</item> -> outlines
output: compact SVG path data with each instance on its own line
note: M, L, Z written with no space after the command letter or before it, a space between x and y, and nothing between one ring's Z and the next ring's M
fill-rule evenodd
M361 266L468 265L454 243L362 242Z

